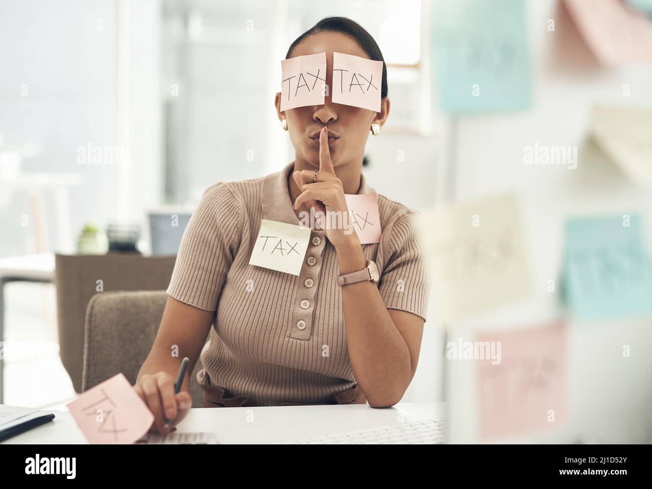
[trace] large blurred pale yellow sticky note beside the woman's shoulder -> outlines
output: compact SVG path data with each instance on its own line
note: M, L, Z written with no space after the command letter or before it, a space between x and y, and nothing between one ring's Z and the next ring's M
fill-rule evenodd
M530 293L516 195L446 206L420 219L443 320L473 316Z

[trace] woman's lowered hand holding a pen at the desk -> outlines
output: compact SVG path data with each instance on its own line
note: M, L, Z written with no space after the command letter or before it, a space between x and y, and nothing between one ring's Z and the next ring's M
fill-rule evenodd
M134 385L134 390L145 401L154 415L150 431L156 428L160 434L168 434L181 423L190 407L192 397L186 391L174 393L175 379L168 372L146 374Z

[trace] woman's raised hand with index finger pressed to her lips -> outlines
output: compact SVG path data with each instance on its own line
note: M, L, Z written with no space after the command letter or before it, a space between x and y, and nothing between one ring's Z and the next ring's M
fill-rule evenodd
M292 176L302 191L294 203L294 208L298 209L303 204L312 207L319 227L324 230L334 247L355 242L358 239L357 234L351 225L342 182L335 175L326 127L319 133L317 181L313 182L314 171L310 170L297 170Z

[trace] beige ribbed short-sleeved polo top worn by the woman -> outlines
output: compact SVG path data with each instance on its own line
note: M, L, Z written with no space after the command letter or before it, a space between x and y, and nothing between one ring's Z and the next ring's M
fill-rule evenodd
M311 231L299 276L249 264L261 219L299 224L288 191L292 169L293 162L262 178L207 188L186 227L167 291L184 303L217 310L201 353L200 384L247 395L259 406L323 404L356 383L336 281L338 259L325 233ZM362 176L359 193L372 191ZM388 308L425 319L428 272L417 212L383 195L378 210L381 242L363 249L378 266L380 294ZM300 305L304 300L307 309Z

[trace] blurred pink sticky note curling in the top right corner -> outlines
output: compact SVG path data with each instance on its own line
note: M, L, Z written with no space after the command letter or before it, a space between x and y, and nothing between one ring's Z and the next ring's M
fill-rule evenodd
M652 23L619 0L565 0L578 30L603 66L652 62Z

